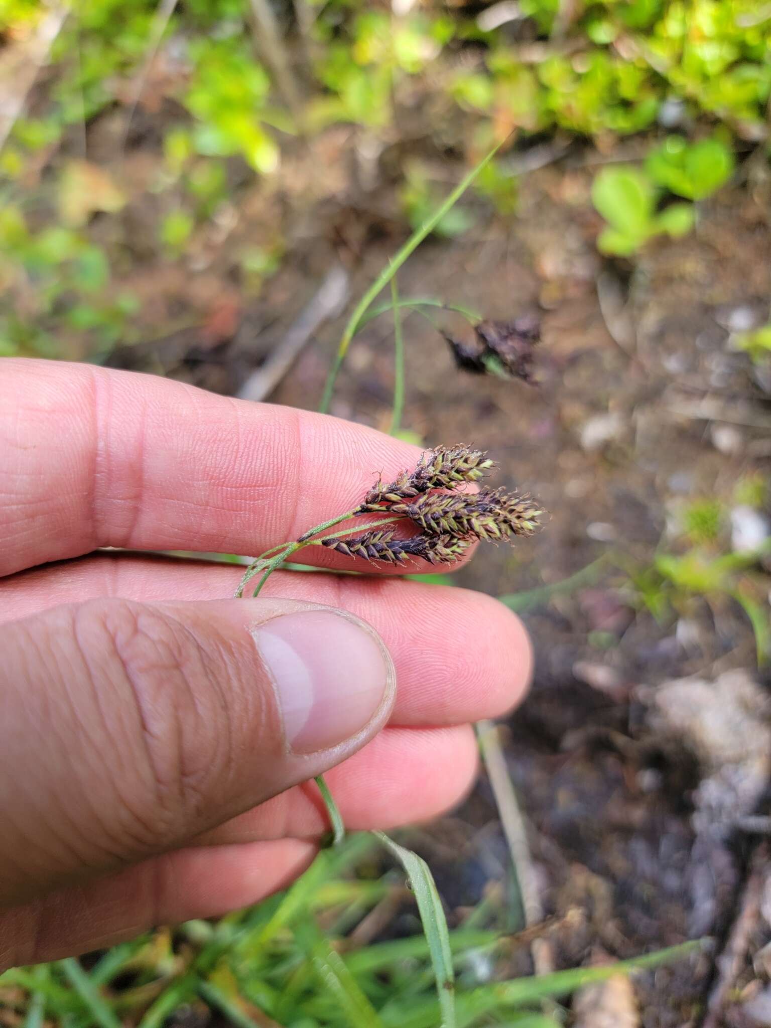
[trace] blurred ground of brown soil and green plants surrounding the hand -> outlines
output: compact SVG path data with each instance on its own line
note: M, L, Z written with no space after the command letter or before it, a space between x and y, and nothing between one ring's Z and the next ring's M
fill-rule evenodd
M525 925L500 782L411 837L453 927L458 1024L674 1028L729 999L726 1024L771 1024L757 911L728 979L698 954L557 1005L608 961L726 937L768 872L746 818L771 773L770 101L764 0L0 0L5 357L236 393L332 261L360 295L502 144L400 280L543 321L539 391L464 378L431 322L405 325L410 438L490 446L552 512L531 549L463 573L536 639L495 751L549 916ZM387 430L382 321L332 410ZM279 401L316 406L341 327ZM9 1028L437 1017L410 895L363 838L254 910L0 979Z

